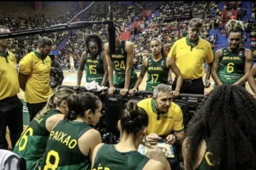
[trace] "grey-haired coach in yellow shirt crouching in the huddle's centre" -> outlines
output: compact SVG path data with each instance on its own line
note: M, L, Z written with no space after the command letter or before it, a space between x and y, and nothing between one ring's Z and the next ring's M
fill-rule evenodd
M154 88L152 98L140 100L138 107L143 108L149 117L147 136L144 138L150 144L155 144L160 138L166 138L168 144L184 138L183 114L177 104L171 102L171 87L159 84ZM171 134L174 131L174 134Z

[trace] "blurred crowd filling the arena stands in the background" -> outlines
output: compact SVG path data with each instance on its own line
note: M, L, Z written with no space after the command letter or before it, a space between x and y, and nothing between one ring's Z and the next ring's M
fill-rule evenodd
M247 34L251 38L251 46L256 46L256 33L255 33L255 2L251 4L251 20L244 21L244 26ZM134 44L135 58L134 67L140 69L140 66L145 57L150 55L150 39L161 39L166 53L171 49L175 41L187 35L189 19L193 17L202 18L203 29L201 37L207 39L213 45L216 42L217 35L209 36L210 29L220 29L220 32L225 36L224 25L220 22L222 10L217 8L216 2L159 2L156 10L159 10L160 15L152 15L150 22L147 16L144 17L141 13L144 9L152 9L152 3L148 2L135 2L133 5L119 5L118 2L113 2L113 20L119 25L121 32L131 32L130 41ZM244 18L247 9L238 8L238 17ZM70 21L77 12L74 8L67 11L66 15L58 16L56 19L48 19L43 13L31 15L29 18L20 17L16 18L2 17L0 23L5 23L9 26L11 31L37 29L49 27ZM99 21L109 19L109 3L95 2L91 8L88 8L84 14L78 17L78 20L83 21ZM130 30L130 26L134 21L144 21L144 27ZM138 31L139 30L139 31ZM54 49L61 44L62 40L68 37L67 43L59 49L58 55L55 57L63 68L68 68L69 58L74 58L74 66L78 69L79 58L81 53L85 50L85 37L92 33L98 33L104 43L108 42L107 39L107 26L106 25L93 25L85 29L54 32L41 35L23 36L13 39L12 48L10 49L21 58L26 53L29 53L36 48L36 40L40 36L48 36L54 42Z

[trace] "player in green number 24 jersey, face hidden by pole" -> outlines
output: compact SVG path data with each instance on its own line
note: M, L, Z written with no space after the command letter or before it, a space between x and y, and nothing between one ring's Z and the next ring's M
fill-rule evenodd
M116 27L116 53L112 54L109 52L109 42L105 44L110 96L112 96L116 88L121 88L120 94L126 95L128 90L132 89L137 81L137 73L133 69L133 43L121 41L120 38L119 29ZM113 75L113 70L115 70L115 75Z

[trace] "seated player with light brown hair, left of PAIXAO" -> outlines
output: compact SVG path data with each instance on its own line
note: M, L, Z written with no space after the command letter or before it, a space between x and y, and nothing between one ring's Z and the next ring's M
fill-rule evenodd
M36 114L17 141L13 151L26 159L27 169L36 169L40 164L40 158L43 157L45 148L47 148L50 131L54 124L63 120L64 114L68 112L66 100L71 94L75 94L74 90L61 88L51 95L47 106Z

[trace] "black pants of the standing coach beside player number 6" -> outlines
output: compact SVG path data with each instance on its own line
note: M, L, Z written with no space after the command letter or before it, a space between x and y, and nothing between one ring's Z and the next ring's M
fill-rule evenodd
M177 79L171 85L171 89L175 90ZM183 80L182 87L179 93L193 93L193 94L204 94L205 87L202 81L202 77L195 80Z

